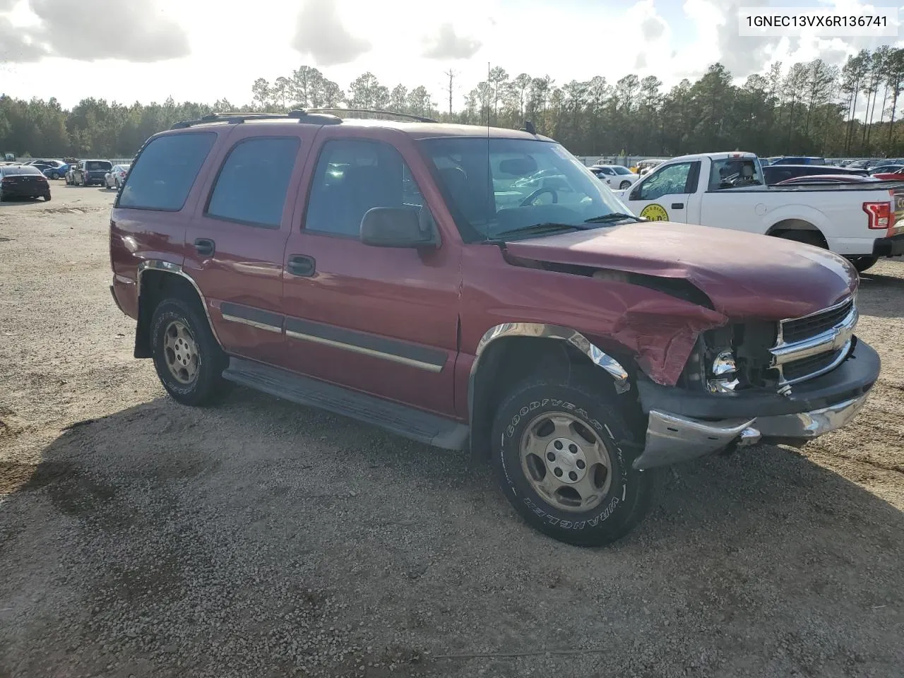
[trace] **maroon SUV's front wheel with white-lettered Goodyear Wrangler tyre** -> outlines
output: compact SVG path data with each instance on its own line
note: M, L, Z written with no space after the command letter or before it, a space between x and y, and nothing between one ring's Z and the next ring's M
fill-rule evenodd
M559 541L600 546L640 523L653 500L654 472L631 466L634 438L598 386L528 381L496 412L496 475L532 527Z

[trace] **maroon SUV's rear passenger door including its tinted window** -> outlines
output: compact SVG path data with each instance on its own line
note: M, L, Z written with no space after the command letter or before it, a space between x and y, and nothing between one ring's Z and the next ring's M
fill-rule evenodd
M227 352L279 364L283 250L316 127L239 125L218 147L185 236L185 272ZM294 195L294 193L292 193Z

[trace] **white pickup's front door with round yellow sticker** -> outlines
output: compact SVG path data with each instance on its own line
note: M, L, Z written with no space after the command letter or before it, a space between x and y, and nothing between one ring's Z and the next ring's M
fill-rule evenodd
M687 223L687 203L699 175L699 162L660 165L626 190L627 206L650 221Z

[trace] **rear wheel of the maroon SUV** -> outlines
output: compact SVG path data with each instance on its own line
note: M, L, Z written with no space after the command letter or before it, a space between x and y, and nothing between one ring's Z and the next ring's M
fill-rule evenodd
M226 355L207 319L183 299L165 299L156 307L151 350L157 376L177 402L206 405L223 393Z

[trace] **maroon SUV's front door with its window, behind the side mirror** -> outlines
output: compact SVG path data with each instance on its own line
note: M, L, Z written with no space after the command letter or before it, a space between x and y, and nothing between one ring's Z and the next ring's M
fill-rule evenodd
M373 207L432 216L394 144L352 135L322 128L306 214L287 243L287 366L451 415L460 250L447 238L426 250L359 240L364 212ZM426 172L419 156L411 160Z

